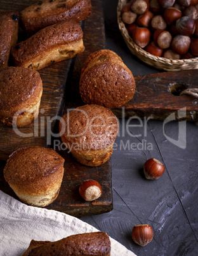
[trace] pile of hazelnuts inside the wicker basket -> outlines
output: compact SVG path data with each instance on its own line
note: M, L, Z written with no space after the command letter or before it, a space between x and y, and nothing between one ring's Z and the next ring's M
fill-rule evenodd
M136 45L150 54L198 57L198 0L131 0L121 18Z

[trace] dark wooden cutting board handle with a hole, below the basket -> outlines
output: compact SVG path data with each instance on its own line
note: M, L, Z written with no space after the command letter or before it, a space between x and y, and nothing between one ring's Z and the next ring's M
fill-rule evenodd
M198 121L198 99L194 96L177 96L177 89L198 88L197 70L169 71L145 76L135 76L135 96L123 108L114 109L117 117L149 117L164 120L174 114L175 120ZM171 93L171 90L173 93ZM178 91L180 90L178 89ZM178 116L178 110L183 115Z

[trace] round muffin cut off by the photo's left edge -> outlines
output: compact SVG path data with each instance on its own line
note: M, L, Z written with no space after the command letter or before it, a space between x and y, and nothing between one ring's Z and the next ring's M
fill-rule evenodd
M0 70L0 121L24 127L39 114L43 83L37 71L27 68Z

